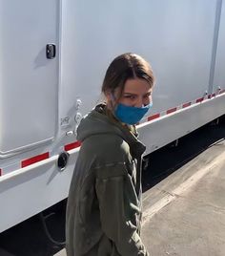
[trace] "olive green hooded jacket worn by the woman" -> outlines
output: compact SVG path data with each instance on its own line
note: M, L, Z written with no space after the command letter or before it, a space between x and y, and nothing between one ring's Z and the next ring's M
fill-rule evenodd
M98 105L78 127L82 146L67 205L68 256L146 256L140 239L145 146Z

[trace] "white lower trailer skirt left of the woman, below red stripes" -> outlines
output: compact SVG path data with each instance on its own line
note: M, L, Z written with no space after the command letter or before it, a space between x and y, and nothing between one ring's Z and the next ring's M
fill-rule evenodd
M59 172L55 156L0 177L0 232L67 197L76 153L71 152L63 172Z

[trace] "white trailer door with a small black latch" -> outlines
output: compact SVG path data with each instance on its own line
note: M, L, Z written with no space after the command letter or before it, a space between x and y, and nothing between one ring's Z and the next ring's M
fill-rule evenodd
M0 157L56 133L58 2L0 0Z

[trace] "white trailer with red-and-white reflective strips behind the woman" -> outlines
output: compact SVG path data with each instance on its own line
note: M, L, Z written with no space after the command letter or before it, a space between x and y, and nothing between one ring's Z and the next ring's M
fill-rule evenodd
M0 0L0 232L67 198L116 55L153 66L149 154L225 114L224 45L222 0Z

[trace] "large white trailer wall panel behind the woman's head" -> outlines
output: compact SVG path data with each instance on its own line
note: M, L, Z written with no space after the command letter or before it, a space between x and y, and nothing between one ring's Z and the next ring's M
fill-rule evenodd
M64 1L62 6L62 116L72 106L71 95L82 99L83 113L92 108L107 66L124 52L142 54L153 65L153 112L208 90L216 0L132 0L129 7L119 0Z

